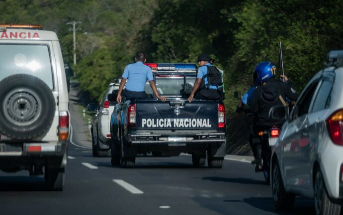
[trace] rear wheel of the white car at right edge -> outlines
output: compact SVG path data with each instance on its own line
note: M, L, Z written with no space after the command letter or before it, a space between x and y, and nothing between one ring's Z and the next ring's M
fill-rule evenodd
M324 179L321 171L318 169L314 183L314 201L316 215L339 215L341 206L334 204L328 197Z

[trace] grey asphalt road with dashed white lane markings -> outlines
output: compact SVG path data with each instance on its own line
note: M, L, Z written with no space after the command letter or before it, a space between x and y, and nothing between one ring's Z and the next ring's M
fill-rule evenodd
M262 173L240 157L228 157L222 169L195 168L188 155L137 158L134 169L113 167L109 158L92 157L73 102L64 191L47 191L44 178L27 171L0 172L0 215L314 214L313 201L305 198L296 198L290 212L275 211Z

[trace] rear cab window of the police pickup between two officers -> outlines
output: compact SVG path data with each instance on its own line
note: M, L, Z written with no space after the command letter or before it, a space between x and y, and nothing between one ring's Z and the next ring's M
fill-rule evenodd
M190 94L196 77L186 77L186 95ZM184 91L183 76L163 76L156 77L156 88L160 95L163 96L182 96ZM153 94L149 82L145 85L145 92Z

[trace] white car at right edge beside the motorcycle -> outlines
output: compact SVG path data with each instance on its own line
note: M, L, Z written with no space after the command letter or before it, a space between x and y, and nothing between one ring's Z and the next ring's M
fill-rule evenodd
M283 124L271 157L277 209L295 196L314 199L317 215L339 215L343 204L343 51L304 88Z

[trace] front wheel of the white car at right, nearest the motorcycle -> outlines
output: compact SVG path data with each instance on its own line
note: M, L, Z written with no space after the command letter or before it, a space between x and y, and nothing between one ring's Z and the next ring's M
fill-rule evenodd
M295 196L286 193L283 186L281 172L277 161L273 163L271 190L274 206L277 210L289 210L293 208Z

